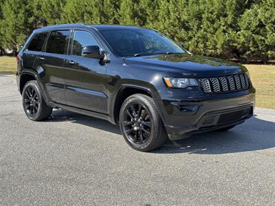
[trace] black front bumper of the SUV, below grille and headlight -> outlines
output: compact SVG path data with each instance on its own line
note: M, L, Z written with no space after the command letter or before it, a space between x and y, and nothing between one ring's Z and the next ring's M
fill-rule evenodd
M253 115L253 87L245 91L214 95L182 92L179 89L174 89L173 93L171 91L158 88L163 102L160 111L171 140L241 124Z

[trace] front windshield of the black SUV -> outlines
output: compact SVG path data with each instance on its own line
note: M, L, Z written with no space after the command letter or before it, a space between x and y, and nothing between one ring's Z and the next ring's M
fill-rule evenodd
M100 34L119 56L185 53L184 49L155 30L102 30Z

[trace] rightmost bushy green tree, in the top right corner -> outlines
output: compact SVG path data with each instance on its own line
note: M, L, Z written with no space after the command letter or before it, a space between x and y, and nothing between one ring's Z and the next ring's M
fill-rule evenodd
M237 32L241 58L266 62L275 58L275 2L254 3L239 19Z

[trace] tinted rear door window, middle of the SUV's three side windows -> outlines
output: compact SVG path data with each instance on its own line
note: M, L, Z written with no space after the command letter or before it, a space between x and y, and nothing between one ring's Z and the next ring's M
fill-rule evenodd
M47 40L47 53L65 54L67 42L69 41L69 30L52 31Z

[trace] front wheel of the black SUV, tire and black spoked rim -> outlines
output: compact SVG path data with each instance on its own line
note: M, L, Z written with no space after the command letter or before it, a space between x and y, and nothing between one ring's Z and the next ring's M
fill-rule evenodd
M153 99L143 94L131 95L123 102L120 130L127 144L142 152L159 148L167 139Z

